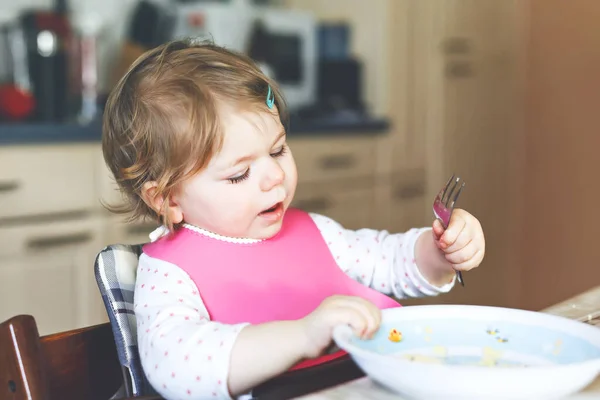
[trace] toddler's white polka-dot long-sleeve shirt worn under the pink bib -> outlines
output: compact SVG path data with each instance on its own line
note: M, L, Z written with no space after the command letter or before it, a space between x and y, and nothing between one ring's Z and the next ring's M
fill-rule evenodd
M311 217L337 265L366 286L396 298L435 296L454 286L454 280L442 287L432 285L415 263L415 244L426 228L399 234L354 231L322 215ZM230 398L227 377L231 350L247 324L211 321L189 275L146 254L139 260L134 303L142 367L163 397Z

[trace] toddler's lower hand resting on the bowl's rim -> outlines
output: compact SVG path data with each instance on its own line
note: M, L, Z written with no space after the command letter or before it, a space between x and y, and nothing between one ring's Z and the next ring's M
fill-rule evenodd
M348 324L361 338L373 336L381 323L381 311L354 296L331 296L300 320L307 338L307 356L319 356L331 343L333 328Z

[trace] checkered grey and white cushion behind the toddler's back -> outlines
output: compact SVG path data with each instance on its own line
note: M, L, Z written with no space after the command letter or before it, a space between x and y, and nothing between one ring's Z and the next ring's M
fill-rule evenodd
M108 313L128 396L156 394L142 370L137 347L133 290L142 245L116 244L96 257L96 282Z

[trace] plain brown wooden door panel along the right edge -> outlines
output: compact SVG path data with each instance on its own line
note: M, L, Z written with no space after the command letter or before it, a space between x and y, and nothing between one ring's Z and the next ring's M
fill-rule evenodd
M531 0L522 303L600 284L600 2Z

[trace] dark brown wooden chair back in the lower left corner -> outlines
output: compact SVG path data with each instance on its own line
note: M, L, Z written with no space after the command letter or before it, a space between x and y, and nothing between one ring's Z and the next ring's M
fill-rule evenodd
M0 324L0 382L3 400L125 396L109 324L40 337L30 315Z

